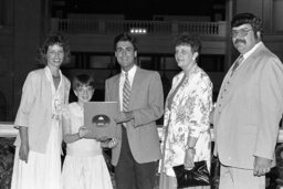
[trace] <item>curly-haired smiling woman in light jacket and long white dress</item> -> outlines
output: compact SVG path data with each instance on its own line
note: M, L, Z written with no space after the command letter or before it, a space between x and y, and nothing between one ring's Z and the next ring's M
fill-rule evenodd
M29 73L14 125L19 128L12 189L61 189L62 106L70 82L60 66L70 60L63 35L50 34L39 48L44 69Z

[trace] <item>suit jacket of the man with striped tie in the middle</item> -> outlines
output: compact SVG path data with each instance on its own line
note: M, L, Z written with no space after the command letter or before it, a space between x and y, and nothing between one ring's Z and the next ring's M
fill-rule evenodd
M106 80L105 101L119 104L120 74ZM134 120L126 124L129 148L134 159L139 162L150 162L161 157L156 120L164 113L164 93L160 75L157 72L137 67L130 93L129 109ZM122 125L117 125L117 137L122 139ZM122 141L123 143L123 141ZM112 164L117 165L120 144L112 149Z

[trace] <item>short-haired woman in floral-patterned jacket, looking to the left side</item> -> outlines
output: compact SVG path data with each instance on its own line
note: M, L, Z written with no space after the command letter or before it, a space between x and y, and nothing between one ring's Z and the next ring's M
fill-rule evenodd
M206 160L210 169L212 83L197 65L200 48L199 39L192 35L181 35L176 41L175 59L182 71L172 78L166 99L160 189L177 188L174 166L190 169L195 161Z

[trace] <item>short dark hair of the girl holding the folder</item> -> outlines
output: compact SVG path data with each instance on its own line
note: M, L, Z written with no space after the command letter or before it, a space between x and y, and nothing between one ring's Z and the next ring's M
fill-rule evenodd
M88 74L77 74L73 78L72 88L76 91L82 86L92 86L94 88L94 78Z

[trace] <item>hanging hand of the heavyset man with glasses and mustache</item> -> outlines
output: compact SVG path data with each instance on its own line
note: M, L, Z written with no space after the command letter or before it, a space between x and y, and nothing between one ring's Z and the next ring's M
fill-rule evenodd
M271 159L255 156L253 164L253 175L260 177L268 174L271 169Z

